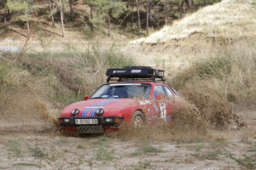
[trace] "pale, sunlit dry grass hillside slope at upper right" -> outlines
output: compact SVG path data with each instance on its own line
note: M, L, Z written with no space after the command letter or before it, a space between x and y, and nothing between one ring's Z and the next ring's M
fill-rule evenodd
M166 26L149 37L132 41L137 43L160 43L202 33L207 37L256 37L256 4L252 0L224 0L212 6L201 8Z

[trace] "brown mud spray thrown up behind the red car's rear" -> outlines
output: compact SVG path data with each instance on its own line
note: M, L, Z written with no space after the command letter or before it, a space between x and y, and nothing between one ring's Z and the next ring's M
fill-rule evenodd
M186 86L182 94L190 104L195 105L201 114L201 119L207 123L207 127L211 129L227 128L231 121L239 123L239 117L232 112L230 104L224 99L208 94L204 86L200 84ZM180 115L186 113L183 111Z

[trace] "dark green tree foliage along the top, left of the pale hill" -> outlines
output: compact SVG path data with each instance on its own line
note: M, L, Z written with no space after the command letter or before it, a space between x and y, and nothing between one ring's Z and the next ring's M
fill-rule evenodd
M148 26L154 28L160 28L165 25L165 3L168 2L170 9L168 10L168 20L177 20L180 16L180 11L183 13L193 12L201 6L210 5L212 3L218 3L220 0L195 0L194 3L188 3L190 1L179 0L155 0L150 1L149 5L149 20ZM6 3L7 2L7 3ZM186 3L185 10L180 10L180 3ZM91 13L88 14L85 10L73 8L73 5L77 1L62 1L63 5L69 8L64 8L64 22L65 26L73 26L73 28L79 28L79 31L84 32L88 37L94 37L97 33L102 32L106 34L106 30L110 23L113 28L124 28L130 30L129 33L134 32L137 34L133 26L137 25L137 5L135 0L84 0L84 3L90 7ZM0 9L8 8L8 14L5 15L8 21L20 23L24 26L30 27L30 20L34 20L37 17L51 20L49 12L49 3L45 1L43 6L38 6L38 1L34 0L7 0L0 2ZM55 22L61 22L60 8L58 3L52 3L52 14ZM88 7L87 6L87 7ZM72 8L71 8L72 7ZM139 1L139 10L142 28L146 29L147 18L147 1ZM88 9L86 9L88 11ZM2 16L1 16L2 15ZM3 20L3 14L0 15L0 20ZM13 20L15 19L15 20ZM18 20L16 20L18 19ZM109 20L108 20L109 19ZM169 22L171 23L171 22ZM7 26L9 23L7 24ZM20 25L20 26L21 26ZM28 28L29 30L30 28ZM1 32L0 32L1 33ZM109 34L110 32L108 32ZM143 33L143 32L142 32Z

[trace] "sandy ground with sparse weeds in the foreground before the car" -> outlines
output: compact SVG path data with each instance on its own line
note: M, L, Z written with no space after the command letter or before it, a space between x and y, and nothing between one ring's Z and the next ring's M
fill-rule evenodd
M247 128L165 141L143 134L136 140L112 135L67 137L42 128L26 130L26 125L4 133L2 124L0 169L253 169L256 111L240 114Z

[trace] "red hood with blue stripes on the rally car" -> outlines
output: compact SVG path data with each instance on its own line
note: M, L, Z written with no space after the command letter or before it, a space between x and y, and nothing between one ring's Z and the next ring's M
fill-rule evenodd
M138 105L140 101L138 99L88 99L67 105L65 109L61 111L61 116L72 116L71 112L74 109L79 109L78 116L96 116L97 109L104 109L102 116L119 116L120 111L124 111L127 108L133 108Z

